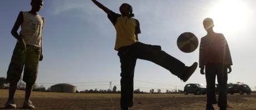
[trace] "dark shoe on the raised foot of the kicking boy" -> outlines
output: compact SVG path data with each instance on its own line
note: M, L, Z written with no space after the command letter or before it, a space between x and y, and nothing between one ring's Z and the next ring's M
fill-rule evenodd
M198 67L198 63L195 62L192 64L192 66L188 67L186 71L183 73L183 76L181 79L186 82L188 81L189 77L195 72L195 69Z

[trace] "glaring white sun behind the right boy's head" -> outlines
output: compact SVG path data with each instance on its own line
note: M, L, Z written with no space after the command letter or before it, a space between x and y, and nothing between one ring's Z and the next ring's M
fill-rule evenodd
M213 18L216 32L232 33L248 26L249 12L242 0L223 0L214 5L209 17Z

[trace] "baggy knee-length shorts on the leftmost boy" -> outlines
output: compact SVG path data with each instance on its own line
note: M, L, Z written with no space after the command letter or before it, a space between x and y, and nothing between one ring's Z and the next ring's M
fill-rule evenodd
M21 73L24 68L23 81L34 84L37 78L40 54L41 49L39 47L29 45L26 45L26 52L23 53L17 43L7 71L7 82L17 83L21 79Z

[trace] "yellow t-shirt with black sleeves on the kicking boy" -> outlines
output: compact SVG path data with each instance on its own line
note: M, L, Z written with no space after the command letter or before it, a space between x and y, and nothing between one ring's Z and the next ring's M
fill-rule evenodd
M140 33L139 21L135 18L128 18L111 12L107 15L116 29L115 50L119 51L120 47L129 46L137 41L135 34Z

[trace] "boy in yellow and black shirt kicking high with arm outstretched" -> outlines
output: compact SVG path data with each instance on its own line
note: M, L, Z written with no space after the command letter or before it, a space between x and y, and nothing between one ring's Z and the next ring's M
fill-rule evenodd
M118 51L121 63L121 109L133 106L134 69L137 58L154 62L168 69L184 82L194 73L198 63L187 67L183 62L161 50L160 46L152 46L139 42L137 34L140 33L139 21L132 13L130 4L120 6L121 14L112 12L96 0L92 0L98 7L107 13L116 29L115 50Z

